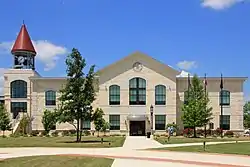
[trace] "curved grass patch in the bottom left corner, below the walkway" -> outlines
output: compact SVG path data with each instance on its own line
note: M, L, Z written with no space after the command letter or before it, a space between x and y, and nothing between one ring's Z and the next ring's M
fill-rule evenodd
M32 156L0 161L1 167L111 167L112 159L74 156Z

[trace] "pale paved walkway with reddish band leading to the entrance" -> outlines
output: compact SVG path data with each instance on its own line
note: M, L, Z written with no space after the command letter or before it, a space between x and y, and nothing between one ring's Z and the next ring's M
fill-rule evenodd
M72 155L114 158L112 167L156 165L159 167L250 167L248 156L148 151L132 148L134 145L137 149L141 149L143 145L141 142L149 144L150 147L159 146L154 140L128 137L124 147L120 148L0 148L0 159L33 155Z

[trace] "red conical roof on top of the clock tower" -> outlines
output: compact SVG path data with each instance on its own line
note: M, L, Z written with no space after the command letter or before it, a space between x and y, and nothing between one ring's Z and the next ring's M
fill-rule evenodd
M25 24L22 25L21 30L17 36L15 44L11 50L11 53L16 51L29 51L36 54L36 50L31 42L29 33Z

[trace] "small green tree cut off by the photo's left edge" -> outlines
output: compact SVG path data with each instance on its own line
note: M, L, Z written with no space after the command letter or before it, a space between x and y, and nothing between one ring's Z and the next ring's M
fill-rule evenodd
M3 137L6 130L11 130L9 114L3 104L0 104L0 130L3 131Z

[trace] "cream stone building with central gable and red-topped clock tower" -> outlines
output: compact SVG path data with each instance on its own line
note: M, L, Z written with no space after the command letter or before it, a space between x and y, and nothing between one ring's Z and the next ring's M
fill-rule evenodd
M23 25L11 51L13 68L4 74L4 102L12 120L18 124L27 113L32 130L43 130L44 109L57 107L63 77L42 77L35 69L36 51ZM164 132L166 124L183 128L181 105L187 90L187 76L152 57L135 52L98 72L99 92L93 103L105 112L111 133L145 135L151 130ZM203 79L203 78L201 78ZM210 129L219 127L220 101L223 103L223 129L243 131L243 83L246 77L224 77L220 100L220 77L207 78L207 91L213 107ZM151 117L152 113L152 117ZM151 124L152 122L152 124ZM14 125L13 125L14 126ZM60 124L57 130L73 129ZM93 123L84 122L84 129L94 130Z

